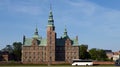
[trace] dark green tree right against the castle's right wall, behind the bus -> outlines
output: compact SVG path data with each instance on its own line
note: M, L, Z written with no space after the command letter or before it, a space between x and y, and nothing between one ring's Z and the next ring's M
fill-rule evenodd
M90 54L87 52L87 45L81 45L80 46L80 59L89 59L90 58Z

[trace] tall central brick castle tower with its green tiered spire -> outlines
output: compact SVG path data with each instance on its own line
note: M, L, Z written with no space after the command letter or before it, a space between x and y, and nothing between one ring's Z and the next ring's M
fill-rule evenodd
M48 25L47 25L47 47L46 47L46 61L51 64L55 61L55 40L56 32L53 20L52 10L50 9Z

